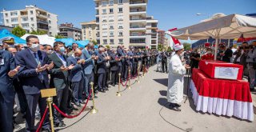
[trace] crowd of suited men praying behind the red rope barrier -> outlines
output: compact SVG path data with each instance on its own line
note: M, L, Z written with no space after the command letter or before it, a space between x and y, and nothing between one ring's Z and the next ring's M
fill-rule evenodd
M119 73L125 82L129 69L130 76L135 77L142 65L153 66L158 56L156 50L95 48L91 42L85 47L75 42L72 47L63 42L41 45L34 35L26 38L26 47L14 46L14 38L2 38L0 43L0 129L5 132L14 129L14 103L26 119L26 131L36 130L35 118L42 118L46 110L46 98L41 97L40 90L56 88L54 104L70 114L85 104L86 98L92 98L90 82L94 82L95 94L105 93L110 85L118 84ZM54 110L54 126L66 126L61 118ZM48 116L42 131L50 131Z

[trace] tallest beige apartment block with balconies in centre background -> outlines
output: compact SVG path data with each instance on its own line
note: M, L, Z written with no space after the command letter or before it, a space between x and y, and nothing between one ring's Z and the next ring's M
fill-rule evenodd
M94 0L94 2L98 43L114 47L152 46L151 33L149 33L150 40L146 41L147 0ZM149 21L150 26L155 26L151 21L153 20Z

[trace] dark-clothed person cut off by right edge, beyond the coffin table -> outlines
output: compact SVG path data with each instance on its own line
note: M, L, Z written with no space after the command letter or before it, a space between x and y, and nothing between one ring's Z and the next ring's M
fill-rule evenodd
M256 59L256 50L255 50L256 42L253 42L252 45L249 46L247 58L246 58L246 66L249 73L249 82L250 82L250 90L254 90L255 85L255 59Z

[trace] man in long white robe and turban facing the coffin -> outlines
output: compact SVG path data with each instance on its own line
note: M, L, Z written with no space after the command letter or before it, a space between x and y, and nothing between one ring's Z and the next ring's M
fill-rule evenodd
M174 45L175 54L170 58L169 64L169 76L168 76L168 90L167 100L170 102L170 110L181 111L178 107L178 103L183 99L183 83L186 69L188 65L182 65L181 56L183 52L183 46L180 44Z

